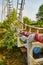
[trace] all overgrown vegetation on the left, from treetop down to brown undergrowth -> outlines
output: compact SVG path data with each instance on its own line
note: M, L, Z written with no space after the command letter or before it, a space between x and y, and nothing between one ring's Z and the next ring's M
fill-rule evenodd
M16 11L7 16L7 19L0 23L0 28L5 29L6 32L0 35L0 56L5 57L5 60L0 62L0 65L26 65L26 60L23 57L21 50L17 46L17 33L15 27L19 27L16 22ZM2 30L3 32L3 30Z

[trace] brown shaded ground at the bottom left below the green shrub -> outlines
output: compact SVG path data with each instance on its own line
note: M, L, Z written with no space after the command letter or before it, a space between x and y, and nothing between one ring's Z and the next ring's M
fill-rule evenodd
M17 47L10 51L0 48L0 57L7 61L7 65L27 65L25 54Z

